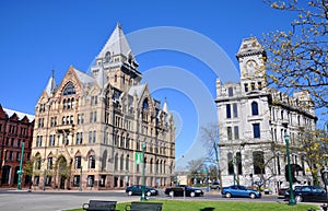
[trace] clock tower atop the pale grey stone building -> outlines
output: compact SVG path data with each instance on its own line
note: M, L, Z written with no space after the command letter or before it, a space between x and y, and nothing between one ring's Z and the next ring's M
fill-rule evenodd
M257 38L243 39L236 57L239 62L241 83L244 84L244 91L261 90L266 85L267 55Z

